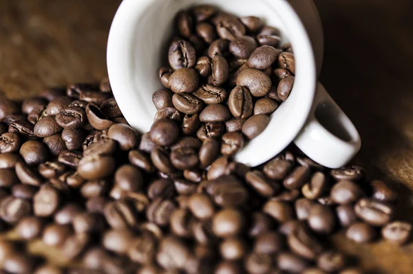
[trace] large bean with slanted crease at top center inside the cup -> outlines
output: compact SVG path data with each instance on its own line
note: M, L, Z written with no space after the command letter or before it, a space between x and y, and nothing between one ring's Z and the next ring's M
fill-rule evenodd
M218 14L213 22L217 27L220 38L230 41L243 36L246 32L244 25L234 16L229 14Z

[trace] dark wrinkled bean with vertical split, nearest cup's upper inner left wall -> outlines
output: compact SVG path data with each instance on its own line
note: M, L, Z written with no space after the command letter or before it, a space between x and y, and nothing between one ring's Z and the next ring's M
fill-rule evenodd
M173 41L169 46L168 60L171 68L175 70L193 67L196 61L195 49L187 41L181 39ZM171 79L169 83L171 84Z

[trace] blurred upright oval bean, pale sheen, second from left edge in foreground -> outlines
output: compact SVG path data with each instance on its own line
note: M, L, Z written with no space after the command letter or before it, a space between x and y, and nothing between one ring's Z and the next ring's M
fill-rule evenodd
M33 197L33 212L36 216L52 216L59 208L61 194L50 184L44 184Z

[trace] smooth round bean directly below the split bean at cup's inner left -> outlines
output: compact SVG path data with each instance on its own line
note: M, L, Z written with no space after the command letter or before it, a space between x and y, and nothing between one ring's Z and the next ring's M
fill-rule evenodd
M171 90L174 93L191 93L198 88L199 76L195 69L182 68L173 71L169 78Z

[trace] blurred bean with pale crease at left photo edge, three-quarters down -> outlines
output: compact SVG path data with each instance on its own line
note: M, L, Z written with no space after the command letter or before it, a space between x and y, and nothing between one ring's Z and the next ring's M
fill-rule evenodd
M0 202L0 218L5 222L14 224L32 212L32 205L23 198L6 196Z

